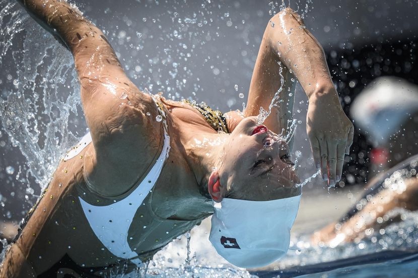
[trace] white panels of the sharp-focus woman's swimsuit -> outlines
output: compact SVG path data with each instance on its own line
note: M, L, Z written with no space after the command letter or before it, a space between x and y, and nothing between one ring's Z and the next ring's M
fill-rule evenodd
M165 119L164 111L160 108L159 111L163 114L163 119ZM127 241L128 230L136 211L141 204L143 204L144 199L148 196L157 182L164 161L168 157L170 137L167 134L165 121L163 122L163 125L163 150L147 176L132 193L124 199L108 206L94 206L79 197L84 214L97 238L112 254L121 258L130 259L130 261L137 266L141 265L142 261L137 258L138 253L129 247ZM91 135L90 133L87 133L79 144L65 155L64 160L77 156L91 141Z

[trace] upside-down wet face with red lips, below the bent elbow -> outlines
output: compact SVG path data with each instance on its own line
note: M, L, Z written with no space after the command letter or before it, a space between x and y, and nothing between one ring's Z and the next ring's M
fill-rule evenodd
M290 160L288 144L257 124L256 117L243 119L225 147L220 168L226 181L226 198L269 201L297 196L300 179Z

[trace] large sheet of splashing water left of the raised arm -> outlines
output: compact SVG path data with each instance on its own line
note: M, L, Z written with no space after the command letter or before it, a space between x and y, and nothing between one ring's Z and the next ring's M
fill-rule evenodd
M43 43L35 43L42 38ZM24 49L13 52L16 86L0 103L2 125L14 146L19 146L29 165L27 174L44 188L63 152L77 142L68 130L70 114L78 115L80 90L73 58L45 31L26 33ZM60 59L50 59L54 53ZM0 59L1 60L1 59ZM47 65L47 66L45 66ZM63 86L74 86L74 94L59 94ZM58 155L57 155L58 154Z

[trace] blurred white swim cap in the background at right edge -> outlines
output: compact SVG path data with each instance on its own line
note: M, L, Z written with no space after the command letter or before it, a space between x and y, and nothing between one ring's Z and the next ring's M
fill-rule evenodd
M397 77L379 77L353 101L354 124L376 143L385 143L418 110L418 87Z

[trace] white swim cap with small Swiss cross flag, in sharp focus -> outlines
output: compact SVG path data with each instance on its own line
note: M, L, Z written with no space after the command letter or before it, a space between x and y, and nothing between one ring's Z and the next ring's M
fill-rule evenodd
M238 267L260 267L284 256L301 196L273 201L224 198L215 204L209 240Z

